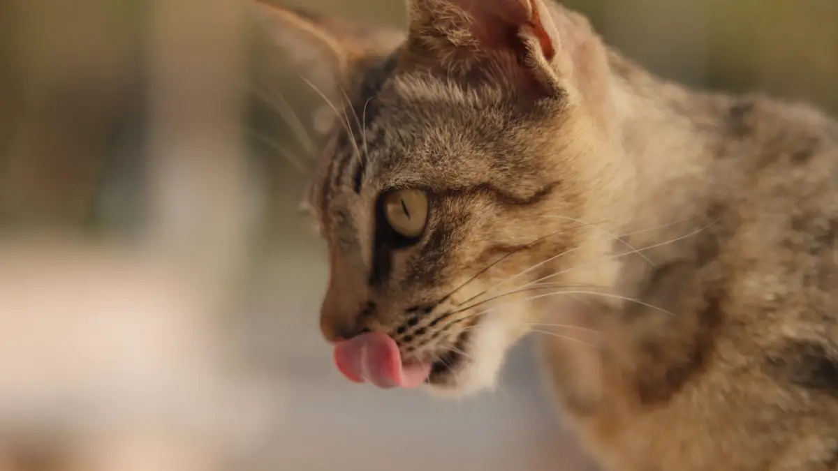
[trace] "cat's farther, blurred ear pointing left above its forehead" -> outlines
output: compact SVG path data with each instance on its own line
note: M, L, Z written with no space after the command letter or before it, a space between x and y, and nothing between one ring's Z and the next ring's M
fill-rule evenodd
M331 95L349 89L363 69L391 54L404 34L330 18L286 3L251 0L271 39L302 66L303 77Z

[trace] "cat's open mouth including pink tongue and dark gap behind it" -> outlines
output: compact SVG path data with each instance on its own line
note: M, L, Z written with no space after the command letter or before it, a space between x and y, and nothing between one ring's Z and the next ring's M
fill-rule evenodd
M411 388L423 383L447 386L468 361L463 351L468 334L463 332L451 349L432 361L403 362L396 341L386 334L370 332L345 340L334 347L334 363L355 382L370 382L380 388Z

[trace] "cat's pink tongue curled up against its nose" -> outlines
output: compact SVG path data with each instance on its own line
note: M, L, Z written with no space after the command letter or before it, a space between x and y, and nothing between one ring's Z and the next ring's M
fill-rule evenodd
M430 365L401 365L396 341L377 332L360 334L336 344L334 364L350 381L370 381L380 388L416 387L431 373Z

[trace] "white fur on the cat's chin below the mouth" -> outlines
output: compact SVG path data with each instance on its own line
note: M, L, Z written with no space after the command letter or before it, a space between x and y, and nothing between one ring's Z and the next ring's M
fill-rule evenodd
M456 373L456 384L429 386L435 396L467 396L492 390L498 383L506 351L515 341L513 329L504 318L487 316L472 330L466 353L470 357Z

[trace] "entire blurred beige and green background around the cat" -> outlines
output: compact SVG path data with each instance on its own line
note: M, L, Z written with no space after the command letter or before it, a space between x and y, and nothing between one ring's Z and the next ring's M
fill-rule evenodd
M838 112L834 0L566 4L660 75ZM527 342L458 401L339 378L297 215L320 98L245 8L0 2L0 471L593 469Z

